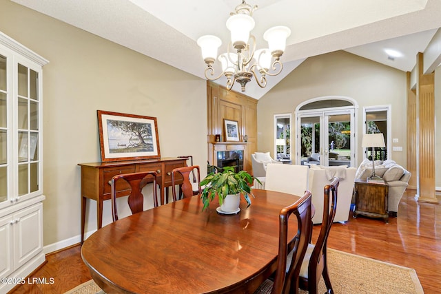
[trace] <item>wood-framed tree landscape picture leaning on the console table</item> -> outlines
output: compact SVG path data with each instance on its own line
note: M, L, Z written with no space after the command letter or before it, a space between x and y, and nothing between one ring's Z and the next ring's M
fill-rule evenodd
M101 161L160 158L156 118L97 110Z

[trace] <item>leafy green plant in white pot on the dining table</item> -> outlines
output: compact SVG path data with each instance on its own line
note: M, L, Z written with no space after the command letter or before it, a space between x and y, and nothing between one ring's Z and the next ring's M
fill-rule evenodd
M251 186L253 181L260 180L254 178L247 171L234 171L234 167L215 167L217 172L209 173L202 181L203 188L201 200L204 204L203 209L207 209L209 202L218 196L219 205L216 209L219 213L232 214L240 211L240 195L247 201L247 207L251 204L249 196L253 196ZM231 197L230 197L231 196ZM230 201L234 202L231 203ZM232 205L232 207L228 207Z

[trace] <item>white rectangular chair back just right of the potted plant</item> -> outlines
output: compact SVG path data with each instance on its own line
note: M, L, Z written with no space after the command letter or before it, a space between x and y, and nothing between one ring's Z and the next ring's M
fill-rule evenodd
M303 195L308 189L307 165L267 164L265 190Z

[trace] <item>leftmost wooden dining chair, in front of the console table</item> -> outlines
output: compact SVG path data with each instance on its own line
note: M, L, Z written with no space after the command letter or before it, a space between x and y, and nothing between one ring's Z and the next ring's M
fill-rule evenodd
M158 207L158 197L156 191L156 171L143 171L139 173L116 175L112 178L112 184L110 188L112 199L112 216L114 222L118 220L116 191L119 191L119 193L121 193L121 189L116 189L116 185L123 185L117 184L119 182L127 182L130 185L130 195L127 198L127 202L129 204L130 211L132 211L132 214L139 213L144 210L144 196L142 192L145 185L147 185L149 182L153 182L152 187L154 207Z

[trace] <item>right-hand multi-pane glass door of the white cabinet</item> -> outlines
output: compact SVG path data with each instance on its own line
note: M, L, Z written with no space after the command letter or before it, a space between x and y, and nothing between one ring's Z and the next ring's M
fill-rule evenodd
M17 65L18 195L39 189L39 73Z

